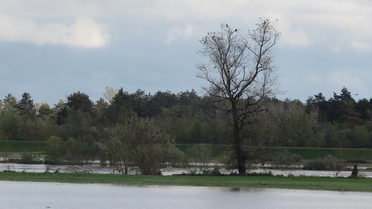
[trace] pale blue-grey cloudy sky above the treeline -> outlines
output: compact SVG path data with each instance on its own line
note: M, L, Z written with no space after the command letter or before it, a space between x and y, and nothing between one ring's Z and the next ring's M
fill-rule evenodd
M96 101L106 86L200 92L198 40L220 23L245 33L270 16L282 32L280 99L329 99L343 87L372 97L368 0L0 0L0 99L27 92L53 105L81 91Z

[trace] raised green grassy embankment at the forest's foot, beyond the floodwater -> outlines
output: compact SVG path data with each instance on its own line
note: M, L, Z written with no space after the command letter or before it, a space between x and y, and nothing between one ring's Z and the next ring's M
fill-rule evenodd
M0 141L0 153L14 152L45 152L47 150L46 141ZM176 147L181 151L186 151L193 144L177 144ZM208 145L212 148L214 159L217 159L225 145ZM297 148L279 147L278 151L286 149L291 153L299 154L303 160L314 160L333 155L340 160L366 160L372 161L372 149L336 149L336 148Z

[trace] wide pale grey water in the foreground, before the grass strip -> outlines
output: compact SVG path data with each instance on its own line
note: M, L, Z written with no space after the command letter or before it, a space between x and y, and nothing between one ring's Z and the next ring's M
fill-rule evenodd
M372 193L0 181L0 208L371 208Z

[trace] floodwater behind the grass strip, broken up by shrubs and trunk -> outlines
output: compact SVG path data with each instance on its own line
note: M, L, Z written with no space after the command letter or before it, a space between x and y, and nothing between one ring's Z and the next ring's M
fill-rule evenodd
M16 172L35 172L42 173L49 167L49 172L54 172L58 168L61 173L72 173L74 171L87 171L89 173L100 173L109 174L113 173L112 167L100 167L98 165L90 166L74 166L74 165L45 165L45 164L14 164L14 163L0 163L0 171L3 170L14 170ZM220 170L222 173L230 173L231 171ZM288 174L293 174L295 176L328 176L334 177L334 171L309 171L309 170L277 170L277 169L257 169L250 170L250 172L263 173L271 171L274 175L283 174L287 176ZM181 174L187 173L185 168L164 168L162 170L163 175ZM347 177L351 175L351 171L341 171L337 176ZM359 171L359 175L363 177L372 178L372 171Z

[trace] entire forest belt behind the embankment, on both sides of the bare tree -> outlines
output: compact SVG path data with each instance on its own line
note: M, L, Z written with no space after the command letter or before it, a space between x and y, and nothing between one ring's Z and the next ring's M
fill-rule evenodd
M61 141L94 144L107 140L108 129L144 118L155 132L166 134L177 144L228 144L231 118L211 105L214 98L195 90L128 93L106 87L103 97L93 102L77 91L51 107L34 103L29 93L16 99L8 94L0 99L0 140ZM224 105L223 103L219 105ZM372 147L372 99L355 101L347 88L326 99L322 93L298 99L267 97L265 111L250 115L255 123L244 136L252 145L274 140L278 147Z

